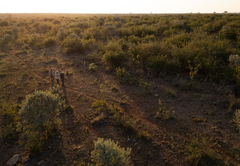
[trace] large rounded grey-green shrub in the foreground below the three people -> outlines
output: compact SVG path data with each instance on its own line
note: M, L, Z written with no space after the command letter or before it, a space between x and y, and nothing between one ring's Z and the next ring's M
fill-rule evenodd
M41 150L40 145L59 127L60 105L61 97L50 91L35 91L23 101L19 115L24 133L28 137L26 147L29 150Z

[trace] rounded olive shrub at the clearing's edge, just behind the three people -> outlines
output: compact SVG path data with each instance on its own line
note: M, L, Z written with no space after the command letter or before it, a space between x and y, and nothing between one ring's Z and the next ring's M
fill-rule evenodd
M73 34L64 39L62 45L65 48L65 52L67 54L82 53L84 51L81 39L74 36Z

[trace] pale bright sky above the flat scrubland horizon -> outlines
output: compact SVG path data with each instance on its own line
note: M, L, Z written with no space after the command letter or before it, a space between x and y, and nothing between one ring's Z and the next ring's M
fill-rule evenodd
M240 13L240 0L1 0L0 13Z

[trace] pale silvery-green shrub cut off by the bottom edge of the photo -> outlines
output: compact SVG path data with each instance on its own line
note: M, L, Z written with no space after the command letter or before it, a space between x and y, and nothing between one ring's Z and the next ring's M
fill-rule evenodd
M91 152L92 162L96 166L128 166L130 160L131 149L121 148L118 142L115 143L111 139L104 140L98 138L94 141L94 150Z

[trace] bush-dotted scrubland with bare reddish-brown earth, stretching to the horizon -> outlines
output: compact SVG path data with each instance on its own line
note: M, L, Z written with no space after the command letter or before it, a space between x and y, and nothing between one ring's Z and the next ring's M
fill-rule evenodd
M30 165L239 165L232 130L240 130L239 20L231 13L0 15L0 160L44 151ZM66 70L66 87L42 91L52 67ZM191 137L204 130L208 136ZM132 163L130 153L120 163L115 145L111 158L96 148L91 156L99 136L133 148Z

